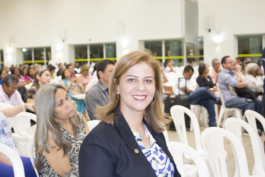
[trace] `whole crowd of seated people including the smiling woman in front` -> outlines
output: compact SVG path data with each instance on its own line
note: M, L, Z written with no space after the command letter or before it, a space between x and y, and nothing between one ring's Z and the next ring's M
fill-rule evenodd
M135 56L144 56L143 58L145 59L133 58ZM110 60L98 62L95 66L97 71L96 78L98 81L88 90L84 100L74 98L71 95L71 90L77 83L89 85L92 81L92 74L89 72L90 69L87 65L79 66L74 65L74 63L63 65L59 63L59 70L57 73L55 73L56 68L53 65L48 65L47 69L42 69L37 63L35 63L33 67L20 65L21 69L14 66L11 68L11 74L7 74L8 67L3 68L3 70L0 70L0 81L2 82L0 85L0 102L18 106L13 108L16 108L16 111L12 112L12 114L6 113L6 111L1 112L0 118L6 121L8 120L6 117L17 114L23 109L29 109L37 114L37 128L35 132L36 168L41 176L85 176L85 174L97 176L96 173L108 176L110 173L118 173L122 167L120 167L119 164L110 162L115 158L123 160L123 157L112 154L114 151L112 147L117 144L108 145L104 142L104 138L115 139L117 143L123 141L126 143L127 141L132 141L131 139L139 140L138 135L141 132L150 133L148 135L153 135L153 131L157 132L158 134L151 137L153 140L152 142L146 141L148 140L145 139L146 137L141 137L143 138L141 139L141 143L135 141L136 143L134 144L140 147L139 150L143 153L150 147L162 150L159 145L163 145L164 143L163 141L158 141L160 141L161 132L165 128L164 124L167 123L168 120L162 118L155 119L156 121L160 121L159 126L150 121L154 120L151 118L153 113L159 116L162 115L159 112L160 109L158 109L158 107L161 107L161 102L159 102L157 98L157 94L160 93L160 91L158 91L158 88L160 88L159 84L167 83L169 81L167 73L175 73L176 69L174 68L173 60L166 60L165 68L163 69L158 63L152 63L153 59L151 60L149 57L150 54L145 52L129 53L121 59L117 68L115 63ZM130 63L131 68L127 68L128 70L126 70L126 67L129 66L122 63L123 60L130 60L130 62L132 62ZM224 97L224 104L226 107L237 107L242 109L243 112L247 109L251 109L262 114L261 99L246 100L246 98L233 95L229 89L229 86L237 88L248 87L254 92L262 93L263 73L258 64L253 63L250 59L242 61L243 67L245 68L243 71L244 73L242 73L243 67L229 56L221 60L222 65L220 65L218 59L214 59L212 61L211 70L209 70L207 64L200 61L195 68L198 70L198 77L196 77L193 75L194 63L194 60L190 60L189 66L184 67L183 73L175 78L177 82L175 82L176 85L173 86L172 90L161 90L161 93L165 96L187 94L191 104L199 104L207 109L209 114L208 125L210 127L216 126L214 104L221 104L220 99L213 94L214 92L218 92L216 87L217 82ZM80 73L77 74L76 71L74 71L74 67L80 68ZM139 70L139 67L141 70ZM112 71L114 72L113 76L111 75ZM241 77L242 74L245 74L245 79ZM55 80L57 76L62 77L59 84L49 83L50 80ZM146 79L146 76L148 76L148 79ZM130 78L126 79L126 77ZM179 83L178 78L180 78ZM143 79L143 82L141 82L143 84L139 82L141 79ZM160 83L157 84L157 81ZM29 83L32 83L32 86L30 89L26 89L27 103L23 104L23 96L21 96L17 89ZM143 87L148 88L150 92L143 90ZM131 88L135 88L136 91L134 89L130 90ZM131 98L128 96L131 94L130 91L134 93L132 100L130 100ZM145 93L145 96L148 97L147 101L150 102L147 104L143 101L141 105L137 105L138 103L134 101L142 99L139 93ZM152 99L149 98L149 94L151 94ZM77 102L77 112L74 111L72 100ZM32 103L35 104L35 107L32 106ZM156 107L154 103L156 103ZM23 104L24 108L21 104ZM155 108L156 112L152 112L152 115L142 115L145 109L149 110ZM91 120L101 118L103 122L95 129L97 134L93 133L93 131L87 138L85 137L90 130L86 123L85 109L87 109L87 113ZM111 112L111 109L114 111ZM140 112L141 114L138 115ZM148 119L143 119L145 116L147 116ZM132 117L134 119L135 117L141 117L141 119L133 120ZM121 130L121 124L124 126L125 123L126 125L129 124L130 127L125 126ZM138 128L136 125L141 128ZM262 130L262 126L258 122L257 126ZM0 129L1 128L2 127L0 127ZM102 131L105 132L102 134ZM133 136L130 138L123 137L122 134L125 133L124 131L132 133L134 138L132 138ZM103 138L99 137L99 134ZM144 133L141 133L141 135L143 134ZM120 136L123 137L123 139L120 139ZM128 139L126 140L126 138ZM2 139L0 140L2 142ZM83 141L85 142L84 144L82 144ZM10 146L13 148L14 141L11 140L11 138L10 142ZM123 147L119 148L127 152ZM79 151L81 151L81 156L78 156ZM175 163L167 148L164 147L162 151L163 157L169 159L168 162L163 161L164 166L161 164L161 166L157 165L157 161L151 160L153 164L156 164L155 166L151 164L151 161L149 161L149 163L155 171L163 171L166 163L168 165L166 168L170 168L172 171L163 171L163 173L178 175ZM98 161L99 159L92 158L92 156L95 155L99 155L105 161L100 164ZM0 160L1 158L4 159L4 157L5 156L0 154ZM131 158L134 163L134 156L128 157ZM146 158L149 159L148 157ZM154 158L157 157L153 156L153 159ZM27 165L24 165L25 173L27 171L26 167L29 167L29 172L27 172L28 176L35 176L29 159L26 159L26 161L28 162ZM79 162L82 162L82 166L78 168ZM1 160L0 165L2 164L11 165L8 159ZM101 171L89 171L90 168L94 169L95 165L100 165L102 167L107 166L108 168ZM127 166L126 168L130 171L131 167ZM4 169L7 168L4 167ZM11 171L12 167L8 169L7 171ZM149 172L150 171L142 171L142 173ZM138 174L138 172L134 172L133 174ZM131 175L133 176L133 174Z

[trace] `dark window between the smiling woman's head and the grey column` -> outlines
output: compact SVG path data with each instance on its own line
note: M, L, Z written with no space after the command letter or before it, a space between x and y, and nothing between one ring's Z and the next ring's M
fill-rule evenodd
M145 41L145 48L155 53L155 58L161 63L165 57L165 60L173 60L174 66L183 65L182 40ZM165 49L165 56L163 56L163 48Z

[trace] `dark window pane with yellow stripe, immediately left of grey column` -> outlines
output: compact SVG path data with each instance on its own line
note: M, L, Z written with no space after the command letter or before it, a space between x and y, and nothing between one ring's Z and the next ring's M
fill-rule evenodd
M165 40L165 60L174 61L174 66L182 66L182 42L181 40Z

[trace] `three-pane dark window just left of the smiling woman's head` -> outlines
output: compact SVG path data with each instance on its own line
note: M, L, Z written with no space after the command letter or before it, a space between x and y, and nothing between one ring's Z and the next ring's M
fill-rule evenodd
M89 48L89 55L87 49ZM116 43L75 45L74 46L75 62L80 65L99 60L116 60Z

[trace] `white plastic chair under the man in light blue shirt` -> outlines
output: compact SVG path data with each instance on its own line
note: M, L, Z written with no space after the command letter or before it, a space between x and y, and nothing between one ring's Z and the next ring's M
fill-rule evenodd
M221 101L222 101L222 105L221 105L221 109L220 109L220 112L219 112L219 117L218 117L218 121L217 121L217 127L220 127L220 123L221 123L221 120L223 118L223 122L225 122L226 118L228 118L228 112L232 111L232 112L235 112L236 113L236 117L239 118L239 119L242 119L242 109L238 109L238 108L227 108L225 106L225 102L224 102L224 99L223 99L223 94L218 86L218 83L216 83L216 86L218 88L218 90L220 91L220 98L221 98ZM225 124L223 124L223 128L225 128Z

